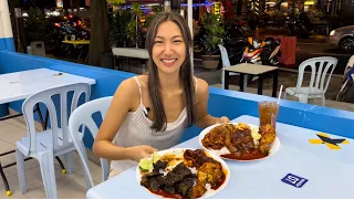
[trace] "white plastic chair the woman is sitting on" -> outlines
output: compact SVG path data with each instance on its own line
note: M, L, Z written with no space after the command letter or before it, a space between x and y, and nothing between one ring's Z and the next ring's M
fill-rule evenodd
M104 119L111 106L112 98L113 98L112 96L108 96L108 97L102 97L102 98L87 102L82 106L80 106L79 108L76 108L69 118L70 134L71 134L71 137L73 138L73 143L79 151L81 163L84 168L83 172L86 178L87 188L93 187L94 184L88 169L86 150L82 143L82 138L84 136L83 134L84 127L80 132L80 126L84 125L85 127L87 127L93 138L95 138L97 136L100 127L97 127L96 123L92 118L92 115L94 113L101 112L102 119ZM101 168L102 168L102 181L105 181L108 178L108 169L110 169L108 160L100 158L100 161L101 161Z

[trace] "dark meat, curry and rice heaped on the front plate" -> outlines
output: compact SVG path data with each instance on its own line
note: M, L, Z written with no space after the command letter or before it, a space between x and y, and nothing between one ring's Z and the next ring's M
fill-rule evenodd
M202 149L184 149L139 163L140 185L150 192L166 198L199 198L218 189L227 170ZM153 169L145 164L153 163ZM142 164L142 166L140 166Z

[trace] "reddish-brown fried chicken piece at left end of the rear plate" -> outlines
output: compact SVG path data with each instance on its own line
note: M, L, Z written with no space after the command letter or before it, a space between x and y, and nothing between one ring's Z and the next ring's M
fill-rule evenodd
M206 148L221 149L225 143L225 126L214 127L201 140Z

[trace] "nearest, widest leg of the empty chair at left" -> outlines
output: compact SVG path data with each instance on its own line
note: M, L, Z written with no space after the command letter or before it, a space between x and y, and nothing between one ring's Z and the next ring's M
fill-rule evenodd
M38 157L46 198L56 199L56 181L54 172L54 156L52 151L40 154Z

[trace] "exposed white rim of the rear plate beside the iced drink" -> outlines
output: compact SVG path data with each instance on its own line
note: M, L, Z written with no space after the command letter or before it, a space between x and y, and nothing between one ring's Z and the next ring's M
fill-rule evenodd
M233 124L233 125L238 125L239 123L230 123L230 124ZM244 123L243 123L244 124ZM225 154L230 154L230 150L227 148L227 147L222 147L221 149L219 150L216 150L216 149L211 149L211 148L206 148L205 146L202 146L201 144L201 140L204 139L204 137L216 126L219 126L220 124L216 124L216 125L212 125L212 126L209 126L207 128L205 128L198 136L198 140L199 140L199 145L207 151L210 151L210 154L215 154L219 157L221 157L222 159L229 159L229 158L226 158L226 157L222 157L221 155L225 155ZM251 129L253 128L257 128L259 129L258 126L256 125L251 125L251 124L247 124ZM270 156L273 156L280 148L280 140L278 138L278 136L275 137L274 142L271 144L271 148L270 148L270 153L269 153L269 156L266 156L263 158L258 158L258 159L250 159L250 160L237 160L237 159L230 159L230 160L233 160L233 161L258 161L258 160L261 160L261 159L266 159L266 158L269 158Z

